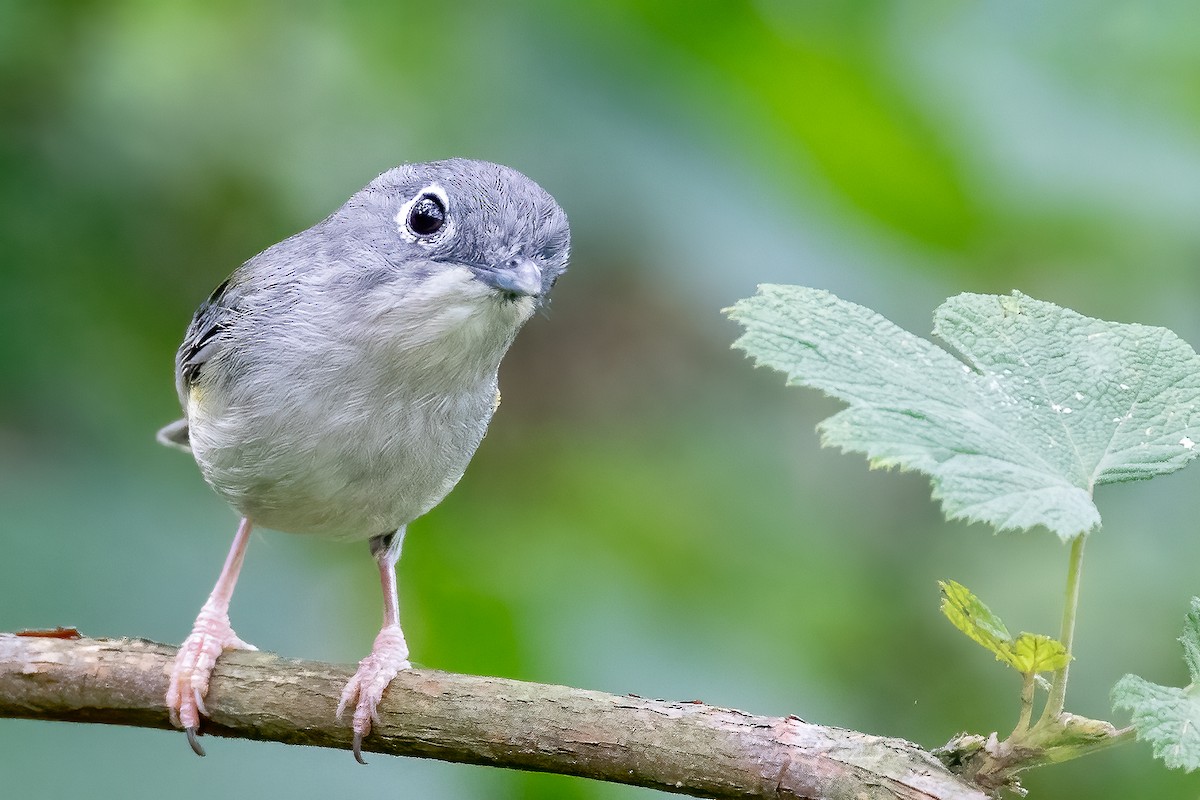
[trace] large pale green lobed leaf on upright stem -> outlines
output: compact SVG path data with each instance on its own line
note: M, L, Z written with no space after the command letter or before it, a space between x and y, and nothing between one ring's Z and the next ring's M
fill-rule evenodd
M952 519L1073 539L1100 523L1096 485L1200 453L1200 356L1166 329L962 294L934 315L960 360L818 289L761 285L727 313L758 365L848 403L824 445L926 473Z

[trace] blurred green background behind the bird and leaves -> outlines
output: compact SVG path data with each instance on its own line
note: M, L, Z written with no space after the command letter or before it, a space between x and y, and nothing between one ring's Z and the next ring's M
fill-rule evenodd
M179 642L234 515L154 441L172 359L234 266L402 161L511 164L574 263L504 407L400 565L415 660L905 736L1012 728L1018 678L938 578L1054 633L1066 549L947 524L920 476L818 449L836 405L728 345L758 282L920 333L1008 291L1200 342L1190 1L0 0L0 630ZM1068 708L1186 673L1200 470L1105 488ZM232 609L353 662L362 546L258 534ZM1123 720L1118 720L1123 722ZM5 796L648 798L556 776L0 721ZM136 776L136 777L131 777ZM1036 798L1195 796L1132 745Z

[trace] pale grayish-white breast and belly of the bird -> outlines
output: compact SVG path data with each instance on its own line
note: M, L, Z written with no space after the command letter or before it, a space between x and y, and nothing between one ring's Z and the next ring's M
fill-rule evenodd
M415 519L462 476L494 411L522 317L498 311L443 308L424 326L386 311L349 327L296 320L229 354L235 378L202 381L188 402L205 479L256 523L289 533L367 539Z

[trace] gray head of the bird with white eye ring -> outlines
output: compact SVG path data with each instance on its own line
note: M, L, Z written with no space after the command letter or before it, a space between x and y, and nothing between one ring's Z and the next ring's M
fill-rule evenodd
M570 253L566 215L521 173L454 158L379 175L323 227L334 296L422 357L503 355ZM430 350L430 345L434 349ZM457 357L457 356L455 356Z

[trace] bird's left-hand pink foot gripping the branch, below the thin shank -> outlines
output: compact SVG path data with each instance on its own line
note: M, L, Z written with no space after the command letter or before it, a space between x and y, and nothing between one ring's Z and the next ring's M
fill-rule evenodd
M209 678L216 666L217 656L226 650L257 650L238 638L229 626L229 614L210 603L204 603L191 634L184 639L175 655L175 666L170 670L170 685L167 688L167 710L172 724L187 730L187 741L197 756L204 754L204 748L196 739L200 726L200 715L208 715L204 698L209 693Z

